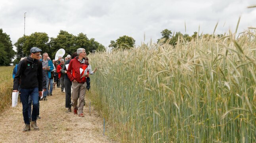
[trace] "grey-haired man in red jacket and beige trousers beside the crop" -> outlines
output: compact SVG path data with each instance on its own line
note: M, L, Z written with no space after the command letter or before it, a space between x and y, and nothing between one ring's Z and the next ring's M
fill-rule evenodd
M77 49L77 57L71 59L69 63L69 67L67 69L67 76L72 82L72 102L74 108L74 114L78 114L79 117L84 117L83 109L84 109L84 96L86 91L86 77L88 74L81 78L84 74L84 70L87 68L86 64L86 52L84 48ZM72 72L72 73L71 73ZM79 104L77 106L77 100L79 98ZM78 113L77 113L78 109Z

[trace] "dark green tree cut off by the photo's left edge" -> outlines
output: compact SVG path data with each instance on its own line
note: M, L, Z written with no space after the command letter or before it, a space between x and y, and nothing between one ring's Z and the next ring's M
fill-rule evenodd
M10 35L3 32L0 29L0 65L8 66L11 63L11 59L15 56L15 51L11 44Z

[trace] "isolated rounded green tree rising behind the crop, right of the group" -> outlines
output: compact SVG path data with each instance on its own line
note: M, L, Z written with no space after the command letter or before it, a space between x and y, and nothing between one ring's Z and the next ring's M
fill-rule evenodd
M113 42L113 40L110 41L111 44L109 47L111 48L123 48L123 49L130 49L131 47L134 47L135 40L132 37L129 36L122 36L119 37L116 42Z

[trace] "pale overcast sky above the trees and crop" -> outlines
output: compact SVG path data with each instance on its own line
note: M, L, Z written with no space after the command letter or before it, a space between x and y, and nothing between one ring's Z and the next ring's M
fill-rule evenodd
M136 45L156 42L164 29L192 35L239 32L256 27L256 0L1 0L0 28L14 44L24 34L46 32L57 37L60 30L87 37L108 46L111 40L128 35ZM186 23L186 32L185 32Z

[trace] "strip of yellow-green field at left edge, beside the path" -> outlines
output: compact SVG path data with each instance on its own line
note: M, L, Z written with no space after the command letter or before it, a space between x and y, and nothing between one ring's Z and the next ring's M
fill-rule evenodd
M0 67L0 113L11 107L11 93L13 90L13 66Z

